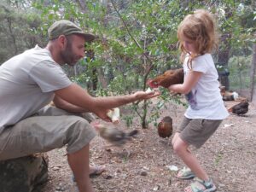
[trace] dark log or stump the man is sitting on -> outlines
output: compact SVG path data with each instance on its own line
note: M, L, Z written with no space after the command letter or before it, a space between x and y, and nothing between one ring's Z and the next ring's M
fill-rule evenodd
M47 178L47 154L0 161L0 192L32 192Z

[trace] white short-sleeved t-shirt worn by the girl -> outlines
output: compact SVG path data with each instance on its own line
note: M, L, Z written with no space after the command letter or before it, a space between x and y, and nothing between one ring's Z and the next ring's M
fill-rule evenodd
M196 57L192 61L192 69L189 69L189 56L183 63L183 70L186 74L189 70L201 72L201 78L195 87L186 95L189 108L185 112L185 117L189 119L225 119L229 116L224 107L222 96L220 95L218 72L212 60L212 55L205 54Z

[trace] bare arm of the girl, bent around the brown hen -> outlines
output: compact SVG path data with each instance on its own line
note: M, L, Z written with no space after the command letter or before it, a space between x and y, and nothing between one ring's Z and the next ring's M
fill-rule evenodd
M201 78L201 75L201 72L195 72L190 70L186 74L183 84L172 84L168 89L174 92L188 94L189 91L192 90L192 88Z

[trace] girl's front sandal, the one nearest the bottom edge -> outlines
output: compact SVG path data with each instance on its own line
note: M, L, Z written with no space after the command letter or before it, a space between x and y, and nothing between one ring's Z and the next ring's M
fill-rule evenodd
M191 183L184 191L213 192L216 191L216 186L212 183L212 179L209 179L209 181L203 181L200 178L195 177L195 182Z

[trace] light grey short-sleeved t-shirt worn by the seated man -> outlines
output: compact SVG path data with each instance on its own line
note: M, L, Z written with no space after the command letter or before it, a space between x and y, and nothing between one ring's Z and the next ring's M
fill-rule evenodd
M0 66L0 133L3 127L37 113L54 91L72 84L48 49L38 45Z

